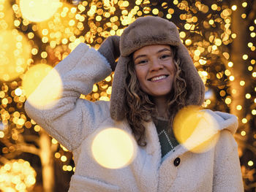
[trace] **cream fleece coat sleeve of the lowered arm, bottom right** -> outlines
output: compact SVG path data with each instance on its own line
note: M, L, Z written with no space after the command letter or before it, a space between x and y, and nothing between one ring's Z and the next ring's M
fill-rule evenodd
M220 132L215 148L213 191L244 191L238 145L228 130Z

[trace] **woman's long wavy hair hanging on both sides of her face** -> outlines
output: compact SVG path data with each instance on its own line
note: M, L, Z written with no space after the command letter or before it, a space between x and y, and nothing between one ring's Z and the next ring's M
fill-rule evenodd
M178 110L186 106L187 83L184 77L184 71L181 69L181 61L176 57L176 47L170 46L173 50L173 64L176 69L176 75L173 81L173 91L170 93L170 99L167 103L167 115L169 117L169 130L171 131L173 118ZM133 54L132 54L133 55ZM154 104L150 95L142 91L140 83L135 73L135 64L132 55L127 64L126 85L125 85L125 118L132 128L132 133L138 145L145 146L145 122L157 117L157 106Z

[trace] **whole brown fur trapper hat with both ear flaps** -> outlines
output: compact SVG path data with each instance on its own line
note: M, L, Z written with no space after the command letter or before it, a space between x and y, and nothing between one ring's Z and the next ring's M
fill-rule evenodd
M126 65L135 50L146 45L172 45L177 49L181 69L184 69L187 82L187 105L201 105L205 87L187 48L182 44L176 25L159 17L138 18L124 29L120 38L120 57L116 65L110 97L110 115L113 120L124 120L124 93Z

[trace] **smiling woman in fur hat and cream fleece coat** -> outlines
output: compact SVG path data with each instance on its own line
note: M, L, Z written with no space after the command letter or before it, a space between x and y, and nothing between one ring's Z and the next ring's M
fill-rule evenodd
M109 37L98 51L80 44L55 69L63 84L58 102L51 108L33 107L28 99L25 107L31 118L72 151L76 169L69 191L243 191L233 138L235 116L206 110L218 121L214 134L219 137L201 153L179 144L173 134L177 113L203 103L204 85L170 21L138 18L124 30L120 42L119 37ZM94 83L114 70L110 102L80 99L81 93L90 93ZM53 85L43 86L50 78L33 94L40 95L42 88L53 91ZM185 125L189 131L189 123ZM89 155L94 133L103 127L132 134L138 152L131 164L108 169ZM207 130L200 133L209 134ZM187 138L191 143L195 139Z

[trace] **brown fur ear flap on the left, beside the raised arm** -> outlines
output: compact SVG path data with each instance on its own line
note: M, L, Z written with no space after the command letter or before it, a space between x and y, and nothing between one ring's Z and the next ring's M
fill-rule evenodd
M129 60L129 56L120 56L116 65L110 96L110 116L113 120L124 120L125 118L125 78L127 77L127 64Z

